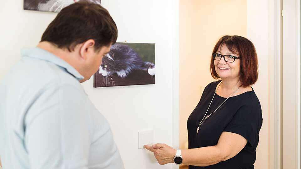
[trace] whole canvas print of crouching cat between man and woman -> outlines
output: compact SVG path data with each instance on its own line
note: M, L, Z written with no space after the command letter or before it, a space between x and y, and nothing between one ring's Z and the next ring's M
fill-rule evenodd
M94 74L94 87L155 84L155 44L116 43Z

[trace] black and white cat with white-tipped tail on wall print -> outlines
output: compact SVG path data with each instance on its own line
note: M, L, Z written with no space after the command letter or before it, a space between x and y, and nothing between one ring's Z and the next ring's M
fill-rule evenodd
M99 74L106 77L116 73L120 78L125 78L133 70L141 69L147 70L151 76L156 73L155 64L144 62L134 49L124 44L114 44L111 51L103 57Z

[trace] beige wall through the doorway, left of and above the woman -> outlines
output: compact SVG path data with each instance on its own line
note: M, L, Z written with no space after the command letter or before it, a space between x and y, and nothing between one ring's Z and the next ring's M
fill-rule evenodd
M214 44L223 35L247 33L246 0L180 0L180 146L187 141L187 118L210 75Z

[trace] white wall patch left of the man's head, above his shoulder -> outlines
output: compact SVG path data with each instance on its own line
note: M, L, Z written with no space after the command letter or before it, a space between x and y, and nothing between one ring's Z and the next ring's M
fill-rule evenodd
M23 10L23 1L3 1L0 6L0 79L20 58L22 47L38 44L55 13Z

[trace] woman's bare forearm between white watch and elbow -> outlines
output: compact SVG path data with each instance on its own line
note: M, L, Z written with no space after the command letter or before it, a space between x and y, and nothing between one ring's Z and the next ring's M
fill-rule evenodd
M181 150L183 164L209 166L225 160L224 153L217 146Z

